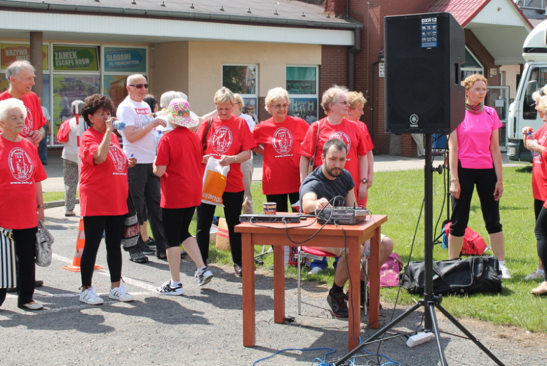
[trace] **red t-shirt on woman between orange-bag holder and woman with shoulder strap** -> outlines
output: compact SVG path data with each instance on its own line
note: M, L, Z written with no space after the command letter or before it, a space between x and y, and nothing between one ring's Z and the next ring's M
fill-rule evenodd
M264 145L262 194L283 195L300 188L300 146L309 125L287 116L281 123L274 118L262 121L252 131L257 145Z

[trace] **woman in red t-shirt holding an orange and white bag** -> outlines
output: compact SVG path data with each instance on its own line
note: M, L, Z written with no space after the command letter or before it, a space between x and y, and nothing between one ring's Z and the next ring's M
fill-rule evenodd
M204 162L212 156L220 160L220 165L230 166L222 202L228 225L234 272L241 276L241 233L234 231L234 227L239 223L243 195L245 194L240 164L250 159L251 149L255 148L256 143L247 122L232 113L234 111L234 93L227 87L222 87L215 93L214 100L217 113L211 123L203 122L199 126L198 136L201 141L205 141ZM215 215L215 208L216 206L212 204L202 203L197 210L196 239L205 265L207 265L209 258L209 231L212 216Z

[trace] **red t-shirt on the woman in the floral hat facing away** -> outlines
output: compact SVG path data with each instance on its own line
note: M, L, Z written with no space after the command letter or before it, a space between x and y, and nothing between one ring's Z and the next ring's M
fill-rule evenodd
M176 127L158 144L156 165L166 165L161 176L161 202L164 209L185 209L201 204L203 190L203 148L195 132Z

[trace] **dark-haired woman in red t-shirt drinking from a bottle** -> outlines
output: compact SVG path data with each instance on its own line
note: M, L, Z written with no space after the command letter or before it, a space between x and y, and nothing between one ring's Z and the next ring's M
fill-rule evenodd
M111 117L114 104L109 97L93 94L83 102L81 115L90 127L83 132L80 142L80 211L86 244L81 255L80 301L90 305L103 300L91 285L95 258L104 232L107 263L112 283L108 297L123 302L133 296L121 286L121 237L128 213L127 168L137 163L135 157L126 157L113 133Z

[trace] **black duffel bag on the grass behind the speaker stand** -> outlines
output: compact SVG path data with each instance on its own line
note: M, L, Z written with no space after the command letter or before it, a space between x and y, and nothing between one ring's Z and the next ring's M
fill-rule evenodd
M401 286L411 294L424 293L424 262L410 262L400 274ZM433 262L433 294L501 293L501 271L494 256Z

